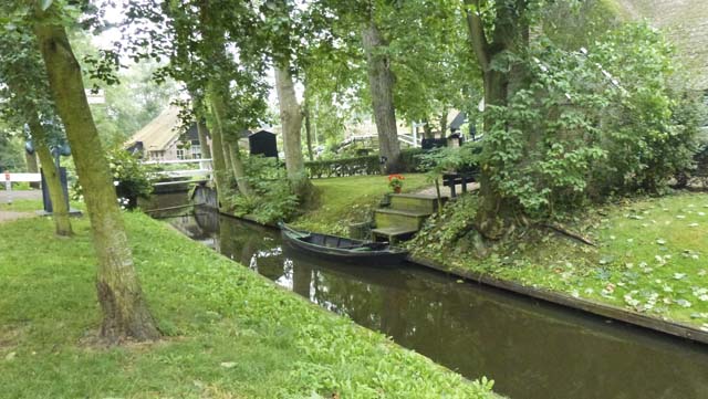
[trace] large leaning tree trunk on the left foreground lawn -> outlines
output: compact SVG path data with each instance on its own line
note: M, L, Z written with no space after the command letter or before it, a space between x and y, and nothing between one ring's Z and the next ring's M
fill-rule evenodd
M159 332L143 297L133 264L108 162L86 101L81 67L64 27L53 24L52 17L39 15L40 22L34 25L34 32L91 218L98 258L96 287L104 316L101 336L110 343L156 339Z

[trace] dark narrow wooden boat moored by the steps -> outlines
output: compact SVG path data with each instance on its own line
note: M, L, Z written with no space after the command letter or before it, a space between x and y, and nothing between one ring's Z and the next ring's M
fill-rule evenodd
M278 225L283 241L290 246L329 260L391 266L403 262L408 254L408 251L392 246L387 242L353 240L300 231L285 223L278 223Z

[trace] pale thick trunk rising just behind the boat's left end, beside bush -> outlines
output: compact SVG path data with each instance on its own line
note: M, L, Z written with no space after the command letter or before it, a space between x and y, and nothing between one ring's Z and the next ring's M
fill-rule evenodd
M278 91L278 104L280 106L280 124L283 130L283 151L285 153L285 169L288 181L293 192L301 199L312 192L312 183L305 171L305 160L302 156L302 112L292 75L288 67L275 65L275 90Z

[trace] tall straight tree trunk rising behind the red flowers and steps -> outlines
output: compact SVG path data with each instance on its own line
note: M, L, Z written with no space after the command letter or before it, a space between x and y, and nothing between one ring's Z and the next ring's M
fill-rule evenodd
M381 52L386 42L374 21L363 27L362 38L368 64L368 85L372 93L376 132L378 133L379 154L386 158L385 172L395 174L400 171L400 144L396 127L394 74L391 71L391 60Z

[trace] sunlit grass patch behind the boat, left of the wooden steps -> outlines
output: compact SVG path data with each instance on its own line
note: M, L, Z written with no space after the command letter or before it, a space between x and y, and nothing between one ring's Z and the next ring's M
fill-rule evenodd
M406 174L403 192L431 186L423 174ZM353 176L313 179L320 193L315 209L298 218L294 225L312 231L346 235L347 223L371 218L383 196L391 192L387 176Z

